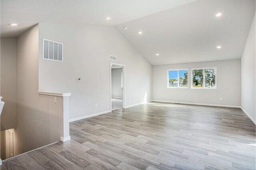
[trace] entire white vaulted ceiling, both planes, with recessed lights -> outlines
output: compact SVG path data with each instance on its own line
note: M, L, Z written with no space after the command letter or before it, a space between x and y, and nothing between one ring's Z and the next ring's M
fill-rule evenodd
M36 23L111 25L152 65L239 59L254 14L255 0L1 0L1 38Z

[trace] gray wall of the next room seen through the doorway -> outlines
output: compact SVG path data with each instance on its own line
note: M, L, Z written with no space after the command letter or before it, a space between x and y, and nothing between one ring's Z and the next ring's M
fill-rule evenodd
M122 68L112 68L111 69L111 79L112 79L112 97L122 98Z

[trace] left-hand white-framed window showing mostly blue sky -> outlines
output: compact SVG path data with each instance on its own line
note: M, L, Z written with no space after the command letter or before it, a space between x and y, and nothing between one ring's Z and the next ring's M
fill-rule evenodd
M187 88L188 69L168 70L167 88Z

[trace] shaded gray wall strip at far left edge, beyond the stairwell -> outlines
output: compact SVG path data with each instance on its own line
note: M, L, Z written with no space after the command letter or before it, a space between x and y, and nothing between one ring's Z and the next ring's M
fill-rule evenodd
M16 38L1 39L1 96L5 102L1 113L1 131L16 128L16 49Z

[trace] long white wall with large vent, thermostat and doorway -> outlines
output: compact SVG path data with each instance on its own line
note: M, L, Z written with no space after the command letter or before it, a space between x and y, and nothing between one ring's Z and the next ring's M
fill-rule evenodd
M63 62L42 59L43 38L64 44ZM109 55L126 65L126 106L151 100L151 64L112 26L40 23L39 90L71 92L70 119L108 111Z

